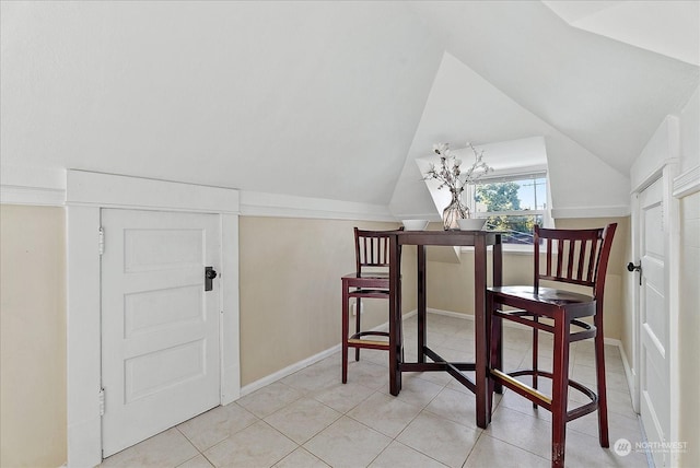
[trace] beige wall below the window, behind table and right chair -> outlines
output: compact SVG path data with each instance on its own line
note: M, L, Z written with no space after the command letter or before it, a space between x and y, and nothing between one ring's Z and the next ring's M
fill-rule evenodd
M605 288L604 332L607 338L621 339L623 320L622 279L627 244L629 243L629 217L615 219L557 220L561 229L600 227L618 223L612 241L612 251ZM442 247L441 247L442 248ZM428 306L443 311L472 314L474 307L474 254L465 251L462 261L428 262ZM489 261L490 268L490 261ZM489 272L490 274L490 272ZM533 256L526 253L504 253L503 284L532 284ZM465 286L466 285L466 286Z

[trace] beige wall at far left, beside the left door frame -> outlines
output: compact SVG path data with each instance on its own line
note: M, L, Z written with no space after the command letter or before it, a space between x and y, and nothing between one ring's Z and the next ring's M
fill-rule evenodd
M0 206L0 466L67 460L62 208Z

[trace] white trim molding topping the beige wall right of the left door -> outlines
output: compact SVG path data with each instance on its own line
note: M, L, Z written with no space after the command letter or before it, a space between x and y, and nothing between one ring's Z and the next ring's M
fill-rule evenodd
M241 191L241 214L244 217L397 221L388 206L248 190Z

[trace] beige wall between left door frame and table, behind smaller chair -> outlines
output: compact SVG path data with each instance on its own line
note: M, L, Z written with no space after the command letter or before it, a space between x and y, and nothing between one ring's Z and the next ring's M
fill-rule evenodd
M241 218L242 385L340 343L340 277L354 270L355 225L375 230L397 226ZM404 270L410 274L415 267L410 267L410 256L407 260ZM368 327L387 320L386 301L368 304L363 314ZM415 299L407 295L404 309L415 307Z

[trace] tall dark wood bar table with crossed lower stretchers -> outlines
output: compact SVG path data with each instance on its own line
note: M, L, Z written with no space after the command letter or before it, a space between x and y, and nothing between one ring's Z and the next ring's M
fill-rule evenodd
M415 245L418 249L418 360L402 361L401 334L401 258L400 246ZM474 247L474 332L475 362L447 362L428 347L425 327L425 246ZM502 283L501 234L489 231L396 231L389 238L389 391L401 390L402 372L447 372L476 396L477 425L486 428L488 414L488 346L486 323L487 250L492 247L492 284ZM427 362L429 358L432 362ZM474 371L471 381L464 371Z

